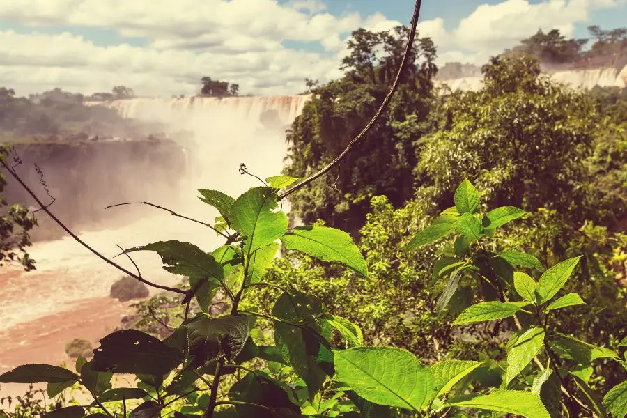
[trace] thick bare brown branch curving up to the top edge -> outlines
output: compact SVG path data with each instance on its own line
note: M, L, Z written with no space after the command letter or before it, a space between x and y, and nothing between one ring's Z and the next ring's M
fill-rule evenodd
M401 75L403 74L403 70L405 70L405 67L407 66L407 62L409 61L408 57L409 57L410 52L412 50L412 45L414 45L414 38L416 36L416 26L418 24L418 16L419 16L419 13L420 13L420 4L421 4L421 0L416 0L416 6L414 7L414 16L412 17L412 28L411 28L410 35L409 35L409 38L408 38L408 41L407 41L407 46L405 47L405 54L403 55L403 61L401 61L401 65L398 67L398 72L396 72L396 78L394 79L394 83L392 84L392 87L389 89L389 92L387 93L387 96L385 96L385 99L381 103L381 106L379 107L379 109L376 112L376 114L374 114L374 116L372 117L372 119L370 120L368 125L366 125L366 127L364 127L362 132L359 132L359 134L357 134L357 137L353 138L350 141L348 146L346 148L344 148L344 150L341 152L340 155L338 155L335 158L335 160L333 160L332 162L327 164L326 167L323 167L323 169L320 169L320 171L318 171L317 173L314 173L311 176L305 178L304 180L302 180L302 182L298 183L297 185L295 185L291 189L286 190L282 194L279 194L279 197L278 197L279 201L281 199L286 198L290 194L296 192L298 189L302 189L302 187L305 187L306 185L308 185L312 181L316 180L316 178L318 178L320 176L323 176L323 174L327 173L327 171L332 169L336 164L338 164L343 159L343 157L345 157L350 152L351 149L353 149L353 147L355 147L357 145L357 143L359 143L359 141L361 141L363 139L363 137L368 133L368 131L370 130L372 125L374 125L374 123L377 121L379 116L381 116L381 114L383 113L383 111L387 107L387 104L389 104L389 101L392 100L392 96L394 95L394 92L396 91L396 88L398 87L398 83L401 80Z

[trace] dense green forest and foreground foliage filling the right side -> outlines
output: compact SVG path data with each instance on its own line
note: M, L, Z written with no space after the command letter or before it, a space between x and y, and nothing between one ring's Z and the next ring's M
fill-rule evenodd
M218 178L199 190L224 245L123 250L155 251L180 284L75 367L0 375L49 397L0 416L625 417L627 88L541 72L624 51L624 29L595 27L587 50L536 33L468 92L436 86L437 47L415 25L353 32L343 77L308 80L284 171L237 197ZM16 180L1 157L0 181ZM28 265L33 227L8 208L4 261ZM135 385L114 387L120 373Z

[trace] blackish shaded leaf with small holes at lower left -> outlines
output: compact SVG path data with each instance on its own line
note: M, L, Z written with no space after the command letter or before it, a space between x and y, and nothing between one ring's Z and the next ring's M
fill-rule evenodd
M100 340L94 350L93 370L114 373L164 375L183 360L178 348L137 330L120 330Z

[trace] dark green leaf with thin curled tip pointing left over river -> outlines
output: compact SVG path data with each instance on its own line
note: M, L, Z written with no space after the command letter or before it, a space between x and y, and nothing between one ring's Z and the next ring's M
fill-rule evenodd
M222 279L224 270L211 254L189 242L176 240L153 242L124 251L156 251L165 264L163 270L183 276L209 276Z

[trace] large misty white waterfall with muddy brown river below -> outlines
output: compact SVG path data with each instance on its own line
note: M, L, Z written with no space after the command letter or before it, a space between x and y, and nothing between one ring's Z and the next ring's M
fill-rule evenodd
M105 105L127 118L159 121L171 132L187 132L184 146L194 169L187 172L180 193L154 196L151 203L212 222L217 210L197 199L197 189L219 189L238 196L258 185L256 178L240 175L240 162L260 178L279 174L287 151L284 129L300 114L307 100L308 95L137 98ZM94 186L106 192L108 185ZM54 205L51 210L54 212ZM120 210L125 206L103 210L102 217ZM210 251L224 241L199 224L148 206L144 211L143 218L123 228L88 231L79 236L107 257L119 254L116 245L128 248L174 239ZM62 212L56 215L64 219ZM39 212L38 216L47 215ZM29 248L29 254L38 262L34 272L0 268L0 373L23 362L59 362L64 357L65 342L75 337L100 339L112 331L125 311L107 297L111 284L123 273L72 238L38 242ZM161 269L157 254L140 251L133 258L146 279L159 284L176 282L176 277ZM126 258L117 257L115 261L134 271ZM43 345L47 346L42 349ZM30 357L24 359L22 353Z

